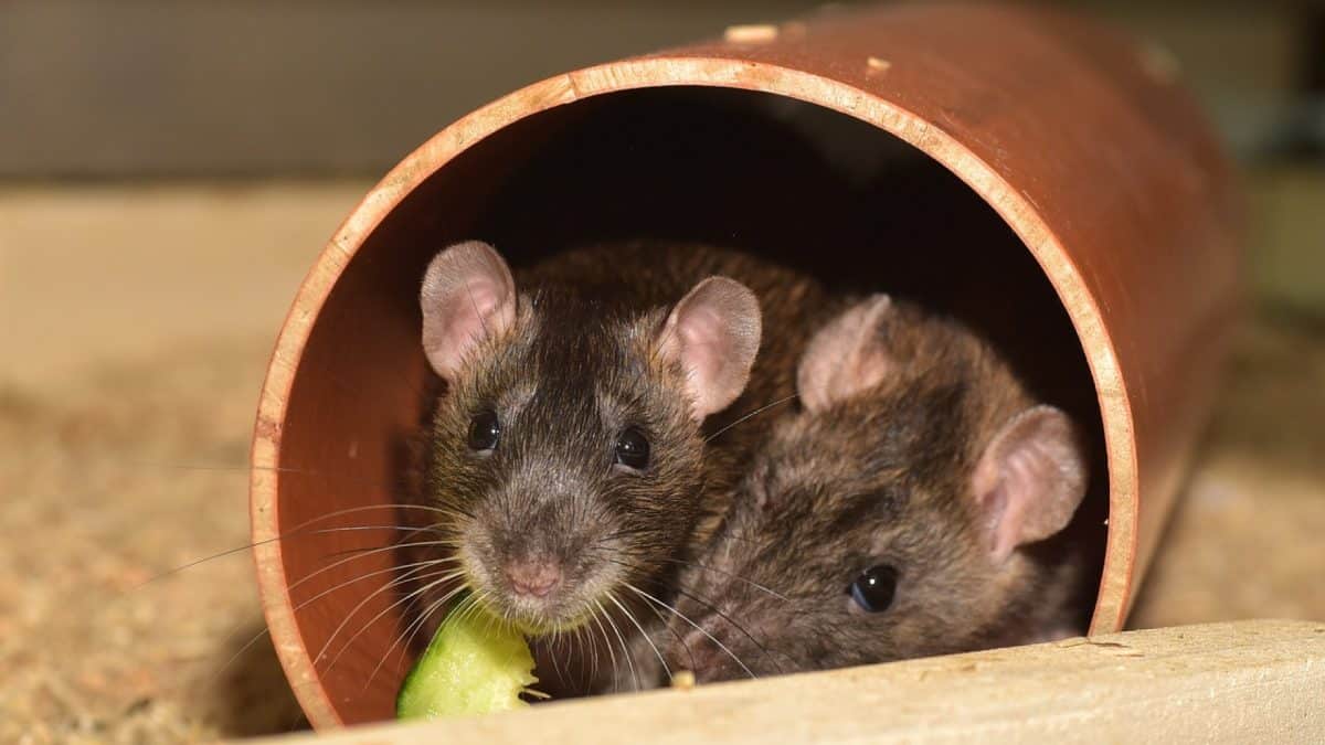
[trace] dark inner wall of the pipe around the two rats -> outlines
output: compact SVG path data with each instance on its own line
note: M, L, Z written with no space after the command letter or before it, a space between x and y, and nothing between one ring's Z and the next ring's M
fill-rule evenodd
M615 93L522 119L440 168L383 220L319 312L282 433L282 467L348 477L282 473L284 529L331 509L392 500L392 489L363 484L399 481L392 453L421 420L419 391L429 376L416 306L423 268L449 243L472 237L513 264L612 239L698 240L775 258L843 292L888 292L966 322L1036 398L1092 435L1094 483L1069 530L1090 547L1092 577L1100 575L1108 473L1097 396L1068 315L1016 235L945 167L872 125L770 94L709 87ZM326 566L329 553L371 540L289 542L286 574L292 582L306 577ZM351 577L326 573L292 591L292 601ZM295 614L310 656L388 577L329 591ZM1094 590L1083 597L1084 619ZM322 677L347 722L390 717L408 667L401 656L364 687L400 631L399 614L386 603L364 607L383 615L352 622L367 631L339 669Z

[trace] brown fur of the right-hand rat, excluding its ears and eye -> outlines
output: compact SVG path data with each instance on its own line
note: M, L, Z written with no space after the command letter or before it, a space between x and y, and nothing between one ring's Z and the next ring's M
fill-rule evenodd
M1045 541L992 561L971 489L988 443L1035 402L984 342L916 308L893 304L874 341L888 374L782 416L681 578L677 610L704 632L672 618L653 635L673 671L712 681L877 663L1032 642L1075 623L1069 547ZM893 604L871 614L848 589L874 565L900 579ZM636 659L659 672L652 650Z

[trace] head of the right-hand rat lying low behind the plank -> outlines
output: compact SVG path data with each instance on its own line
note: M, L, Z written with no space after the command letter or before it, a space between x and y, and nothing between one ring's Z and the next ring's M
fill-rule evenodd
M1080 502L1073 427L957 325L876 296L825 326L723 526L669 661L700 680L1030 640L1032 545ZM701 569L702 567L702 569ZM738 661L739 660L739 661Z

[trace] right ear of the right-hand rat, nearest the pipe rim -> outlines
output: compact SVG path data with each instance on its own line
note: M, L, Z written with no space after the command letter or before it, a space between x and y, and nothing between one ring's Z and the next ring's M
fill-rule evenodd
M975 501L995 563L1063 530L1085 487L1085 455L1065 414L1036 406L1014 416L975 465Z

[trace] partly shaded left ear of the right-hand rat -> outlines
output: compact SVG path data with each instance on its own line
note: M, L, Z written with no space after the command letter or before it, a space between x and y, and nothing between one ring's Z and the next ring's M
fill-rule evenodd
M806 346L796 370L796 391L807 411L877 386L892 369L878 326L892 308L886 294L873 294L828 322Z

